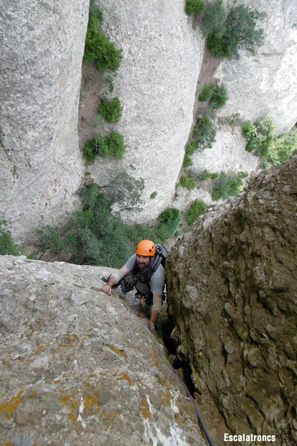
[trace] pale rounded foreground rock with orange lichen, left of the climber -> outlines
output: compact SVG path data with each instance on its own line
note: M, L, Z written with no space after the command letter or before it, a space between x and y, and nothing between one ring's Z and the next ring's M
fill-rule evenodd
M110 271L0 257L1 444L205 445L146 319L99 291Z

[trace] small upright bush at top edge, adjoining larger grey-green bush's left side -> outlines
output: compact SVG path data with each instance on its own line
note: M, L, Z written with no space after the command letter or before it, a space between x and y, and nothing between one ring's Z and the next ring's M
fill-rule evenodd
M204 37L213 31L217 38L222 37L225 32L225 21L227 12L222 5L222 0L208 3L202 12L201 32Z

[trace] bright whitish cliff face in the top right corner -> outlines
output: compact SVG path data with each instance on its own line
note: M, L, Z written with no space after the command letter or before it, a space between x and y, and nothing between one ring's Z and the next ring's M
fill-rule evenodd
M290 0L244 1L267 16L260 22L265 43L256 56L240 52L239 60L224 59L215 77L223 82L229 101L219 115L240 113L256 121L270 115L281 133L297 121L297 11Z

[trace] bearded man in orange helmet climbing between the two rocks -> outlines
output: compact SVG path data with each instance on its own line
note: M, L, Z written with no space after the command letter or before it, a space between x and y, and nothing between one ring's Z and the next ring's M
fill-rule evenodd
M124 278L135 279L133 285L128 289L135 288L138 293L146 298L152 295L151 315L148 321L150 330L155 333L155 322L162 311L162 296L165 285L164 268L160 262L156 266L156 246L151 240L142 240L127 263L118 271L109 276L106 285L101 288L105 294L110 295L113 286Z

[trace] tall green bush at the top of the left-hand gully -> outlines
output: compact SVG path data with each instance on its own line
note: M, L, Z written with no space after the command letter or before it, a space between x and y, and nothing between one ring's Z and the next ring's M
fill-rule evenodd
M83 62L86 65L95 62L99 69L115 72L122 60L122 50L117 50L101 29L102 21L103 15L100 9L91 5Z

